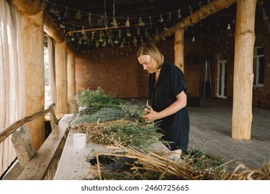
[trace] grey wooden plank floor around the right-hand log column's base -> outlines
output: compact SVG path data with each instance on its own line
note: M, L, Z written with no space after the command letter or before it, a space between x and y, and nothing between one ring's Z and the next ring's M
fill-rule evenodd
M270 110L253 107L251 140L231 138L233 103L230 100L201 98L199 107L188 107L190 148L203 148L209 155L226 161L237 159L246 167L260 168L270 160ZM232 168L237 162L229 163Z

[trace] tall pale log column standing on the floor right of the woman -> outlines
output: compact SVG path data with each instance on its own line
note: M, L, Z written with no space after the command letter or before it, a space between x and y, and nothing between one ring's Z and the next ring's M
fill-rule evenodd
M233 139L251 139L256 0L237 0L233 77Z

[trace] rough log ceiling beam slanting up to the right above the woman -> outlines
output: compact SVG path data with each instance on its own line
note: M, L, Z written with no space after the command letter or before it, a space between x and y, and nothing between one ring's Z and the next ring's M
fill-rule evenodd
M165 32L161 33L160 35L157 35L153 40L159 40L159 39L165 39L166 37L169 37L170 35L174 34L177 30L185 29L188 26L192 26L198 22L197 18L199 16L199 19L204 19L208 17L209 15L214 14L215 12L218 12L219 10L223 10L224 8L228 8L229 6L233 5L236 0L215 0L210 2L210 6L206 5L203 6L201 9L193 12L190 16L183 19L183 22L179 22L177 24L174 24L174 26L170 27Z

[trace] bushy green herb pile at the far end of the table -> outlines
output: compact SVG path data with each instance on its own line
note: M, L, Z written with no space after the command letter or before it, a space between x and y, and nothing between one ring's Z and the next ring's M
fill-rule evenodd
M76 101L78 106L87 107L83 111L85 114L92 114L104 107L122 109L124 104L123 100L105 94L100 87L96 90L82 89L76 94Z

